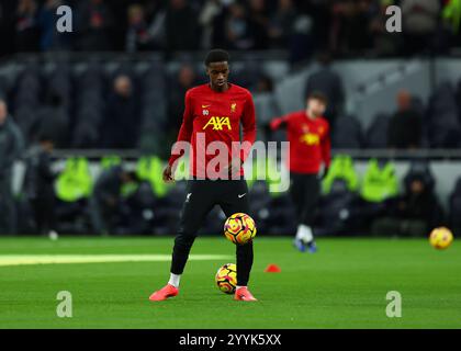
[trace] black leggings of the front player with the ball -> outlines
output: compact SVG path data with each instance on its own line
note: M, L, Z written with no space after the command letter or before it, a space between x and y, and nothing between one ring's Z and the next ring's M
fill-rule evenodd
M171 260L171 273L182 274L196 233L206 215L220 205L225 215L249 214L248 188L245 180L190 180L181 212ZM236 246L237 284L247 285L251 271L252 242Z

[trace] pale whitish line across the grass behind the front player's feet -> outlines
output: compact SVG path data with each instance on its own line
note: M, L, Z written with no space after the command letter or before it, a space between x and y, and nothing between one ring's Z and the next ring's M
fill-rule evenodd
M191 254L191 261L229 259L224 254ZM171 254L1 254L0 267L22 264L166 262Z

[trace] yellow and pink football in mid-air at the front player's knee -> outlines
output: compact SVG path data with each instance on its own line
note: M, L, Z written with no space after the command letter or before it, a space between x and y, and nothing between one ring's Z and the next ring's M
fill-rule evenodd
M245 245L256 236L255 220L245 213L235 213L226 219L224 235L236 245Z

